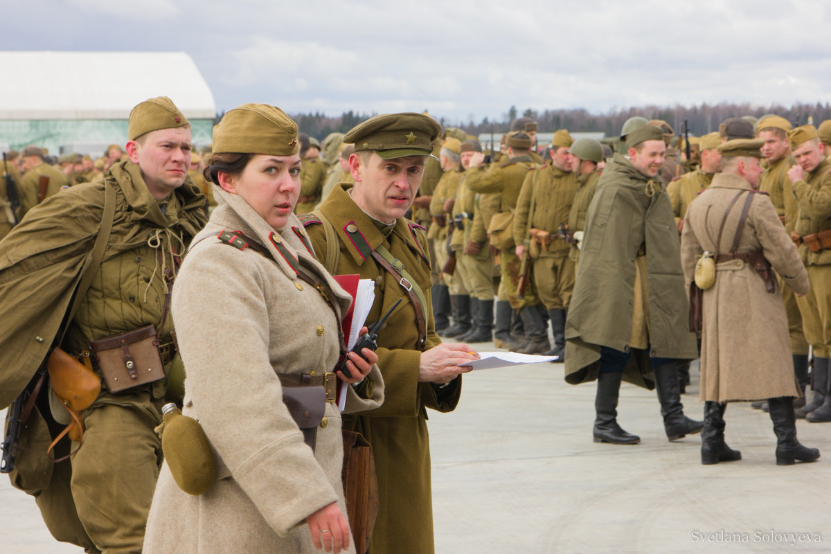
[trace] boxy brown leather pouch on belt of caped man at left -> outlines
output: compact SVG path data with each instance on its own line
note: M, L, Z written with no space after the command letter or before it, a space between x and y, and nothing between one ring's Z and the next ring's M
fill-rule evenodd
M165 378L155 326L95 341L91 349L111 393Z

